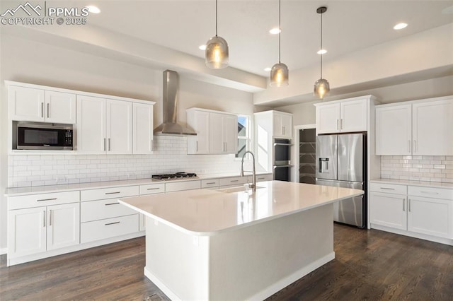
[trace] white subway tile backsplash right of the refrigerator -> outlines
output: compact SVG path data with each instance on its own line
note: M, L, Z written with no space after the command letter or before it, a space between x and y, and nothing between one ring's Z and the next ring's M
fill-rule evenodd
M384 179L452 183L452 159L452 156L444 155L384 155L381 157L381 177Z

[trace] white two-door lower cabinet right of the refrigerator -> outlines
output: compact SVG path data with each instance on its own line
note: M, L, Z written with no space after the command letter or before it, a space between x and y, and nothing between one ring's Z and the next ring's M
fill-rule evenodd
M453 239L453 189L372 183L369 195L372 228Z

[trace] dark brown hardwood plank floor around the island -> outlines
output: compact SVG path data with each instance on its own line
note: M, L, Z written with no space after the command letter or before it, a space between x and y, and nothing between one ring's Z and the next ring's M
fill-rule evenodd
M268 300L453 300L453 247L335 225L336 259ZM168 300L143 275L144 238L6 267L0 300Z

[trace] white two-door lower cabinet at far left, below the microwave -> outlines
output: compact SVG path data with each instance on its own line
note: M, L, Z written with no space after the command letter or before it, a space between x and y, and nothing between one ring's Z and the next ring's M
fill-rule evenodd
M64 193L57 195L64 197ZM55 201L58 198L52 199ZM15 203L11 206L12 208L21 206L21 201L24 201L23 206L32 206L28 196L8 199L8 202ZM52 200L42 199L42 201ZM79 244L79 225L79 200L76 203L9 210L8 259Z

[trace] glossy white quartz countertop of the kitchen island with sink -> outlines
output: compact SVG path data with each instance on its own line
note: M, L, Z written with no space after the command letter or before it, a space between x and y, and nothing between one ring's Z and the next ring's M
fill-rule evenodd
M256 192L196 189L120 199L144 215L192 235L216 235L363 194L294 182L259 182Z

